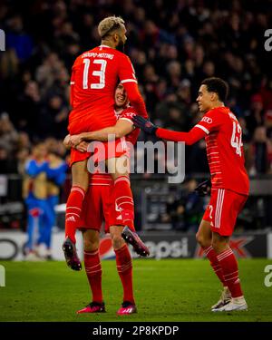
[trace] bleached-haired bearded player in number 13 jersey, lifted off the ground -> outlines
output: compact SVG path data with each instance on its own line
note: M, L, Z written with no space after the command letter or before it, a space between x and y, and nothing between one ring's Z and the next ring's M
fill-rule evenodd
M97 131L115 125L114 91L121 82L129 100L138 114L147 117L145 104L138 89L131 61L122 53L126 42L126 29L121 17L109 16L98 25L102 38L100 46L84 52L75 60L71 78L71 106L68 131L71 135L83 131ZM116 161L124 148L116 142L116 150L111 154L108 143L104 143L104 160L114 180L113 198L121 206L121 215L131 228L134 219L133 200L127 172L118 171ZM75 248L75 229L80 221L83 199L88 189L89 173L87 159L90 154L71 150L73 186L67 199L65 217L65 240L63 252L69 267L81 270L81 262ZM137 241L134 238L134 241ZM139 246L139 253L144 250Z

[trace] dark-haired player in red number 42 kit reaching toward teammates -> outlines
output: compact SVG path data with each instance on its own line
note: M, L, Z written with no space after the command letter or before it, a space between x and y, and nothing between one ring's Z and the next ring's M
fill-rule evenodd
M238 263L228 241L238 213L243 209L249 190L244 166L242 130L235 115L224 102L228 84L222 79L205 79L199 88L197 102L203 118L189 132L160 129L141 116L134 125L167 141L193 144L205 137L211 176L211 197L197 233L199 245L209 258L211 267L224 287L212 311L248 308L238 277Z

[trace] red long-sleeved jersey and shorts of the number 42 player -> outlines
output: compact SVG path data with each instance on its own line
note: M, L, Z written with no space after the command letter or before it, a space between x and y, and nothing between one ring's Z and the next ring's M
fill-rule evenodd
M212 189L203 219L210 222L212 231L230 236L249 190L242 130L235 115L227 107L215 108L207 112L189 133L159 128L156 135L188 144L205 137Z

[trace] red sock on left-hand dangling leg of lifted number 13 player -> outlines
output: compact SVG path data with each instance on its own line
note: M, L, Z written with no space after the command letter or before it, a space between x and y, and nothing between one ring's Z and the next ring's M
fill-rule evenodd
M79 227L84 197L85 190L73 185L66 203L65 215L65 237L71 238L73 243L75 243L75 230Z

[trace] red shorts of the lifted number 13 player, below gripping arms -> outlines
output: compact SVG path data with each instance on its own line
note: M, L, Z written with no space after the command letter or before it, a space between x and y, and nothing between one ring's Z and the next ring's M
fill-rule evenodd
M92 152L81 152L71 149L70 166L77 161L87 160L92 156L92 162L98 163L111 158L119 158L128 152L124 138L116 141L92 141Z

